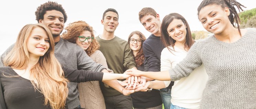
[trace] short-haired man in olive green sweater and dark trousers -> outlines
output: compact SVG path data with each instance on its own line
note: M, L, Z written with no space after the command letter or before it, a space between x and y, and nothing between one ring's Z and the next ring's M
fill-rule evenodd
M118 26L118 12L115 9L107 9L103 13L101 24L104 25L103 34L95 38L100 43L99 50L105 56L108 67L114 73L123 73L126 69L136 68L128 42L114 35ZM132 109L130 95L124 96L115 89L105 86L103 82L100 82L100 87L107 109Z

